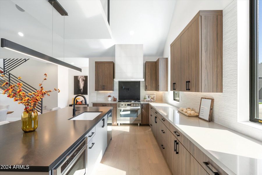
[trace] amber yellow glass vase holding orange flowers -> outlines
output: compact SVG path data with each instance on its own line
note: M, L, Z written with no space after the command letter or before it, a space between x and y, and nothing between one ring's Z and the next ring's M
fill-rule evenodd
M38 126L38 113L36 110L24 111L21 116L22 130L31 132L36 130Z

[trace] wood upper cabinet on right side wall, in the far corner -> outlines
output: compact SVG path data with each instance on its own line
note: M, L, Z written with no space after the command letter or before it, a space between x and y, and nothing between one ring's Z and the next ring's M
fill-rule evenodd
M158 58L156 61L156 91L168 90L168 60L167 58Z

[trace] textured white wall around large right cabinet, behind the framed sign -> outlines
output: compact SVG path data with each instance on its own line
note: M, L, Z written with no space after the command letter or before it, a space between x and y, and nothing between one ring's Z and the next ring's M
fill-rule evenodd
M260 129L237 122L237 46L237 1L233 1L223 10L223 93L180 92L180 102L176 103L169 92L168 102L199 111L201 97L214 98L214 122L262 141Z

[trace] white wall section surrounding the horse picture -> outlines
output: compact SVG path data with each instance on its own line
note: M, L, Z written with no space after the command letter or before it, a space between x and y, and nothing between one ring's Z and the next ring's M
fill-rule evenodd
M88 60L87 60L88 61ZM82 72L74 71L72 69L69 69L68 71L68 104L72 104L72 98L75 97L74 95L74 76L88 76L88 90L90 87L90 81L89 81L89 67L80 67L82 69ZM86 81L86 80L85 80ZM88 95L84 95L86 97L87 103L89 99L89 92ZM82 98L82 97L79 97ZM67 106L68 106L67 104Z

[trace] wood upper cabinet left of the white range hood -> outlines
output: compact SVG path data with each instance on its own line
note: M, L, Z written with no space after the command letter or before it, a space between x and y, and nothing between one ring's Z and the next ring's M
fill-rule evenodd
M95 62L95 90L114 90L114 62Z

